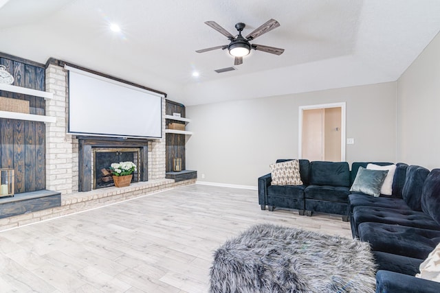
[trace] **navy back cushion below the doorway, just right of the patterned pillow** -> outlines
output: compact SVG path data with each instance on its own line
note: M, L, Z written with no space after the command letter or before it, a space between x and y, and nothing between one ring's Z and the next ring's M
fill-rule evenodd
M350 168L347 162L313 161L310 163L310 185L350 187Z

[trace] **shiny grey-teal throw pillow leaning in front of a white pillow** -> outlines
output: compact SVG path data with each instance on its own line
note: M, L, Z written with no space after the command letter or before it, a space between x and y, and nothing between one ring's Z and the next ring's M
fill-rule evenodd
M388 170L370 170L359 167L350 191L362 192L370 196L380 196L380 187L384 183Z

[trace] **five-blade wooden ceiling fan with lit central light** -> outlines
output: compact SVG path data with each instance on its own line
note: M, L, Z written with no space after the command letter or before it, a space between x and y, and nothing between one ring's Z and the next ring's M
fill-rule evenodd
M250 34L248 34L248 36L245 37L241 36L241 32L246 27L244 23L237 23L235 25L236 30L239 31L239 34L237 36L232 36L230 32L225 30L215 21L205 21L205 23L210 27L212 27L214 30L217 30L217 32L219 32L220 34L223 34L223 36L226 36L228 40L230 40L230 43L229 45L222 45L222 46L197 50L196 51L197 53L203 53L215 49L222 49L222 50L228 49L229 54L235 57L234 65L241 65L243 63L243 56L248 55L250 53L250 49L259 50L275 55L281 55L284 52L284 49L249 43L251 40L258 38L262 34L270 32L271 30L274 30L276 27L279 27L280 23L278 23L278 21L276 21L275 19L270 19L266 23L263 23L263 25L260 25L259 27L256 28L256 30L254 30L254 32L251 32Z

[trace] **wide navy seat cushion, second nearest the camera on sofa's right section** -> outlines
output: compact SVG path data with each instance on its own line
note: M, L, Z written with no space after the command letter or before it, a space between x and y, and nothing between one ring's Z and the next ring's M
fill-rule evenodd
M440 242L440 231L365 222L358 226L359 239L375 251L426 259Z

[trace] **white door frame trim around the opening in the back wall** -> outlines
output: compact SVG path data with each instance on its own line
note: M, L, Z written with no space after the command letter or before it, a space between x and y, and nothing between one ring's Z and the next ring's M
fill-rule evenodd
M345 160L345 138L346 138L346 102L338 102L338 103L331 103L331 104L317 104L317 105L308 105L308 106L299 106L299 145L298 145L298 158L303 159L302 153L303 153L303 111L304 110L312 110L312 109L322 109L322 108L341 108L341 161L344 162Z

